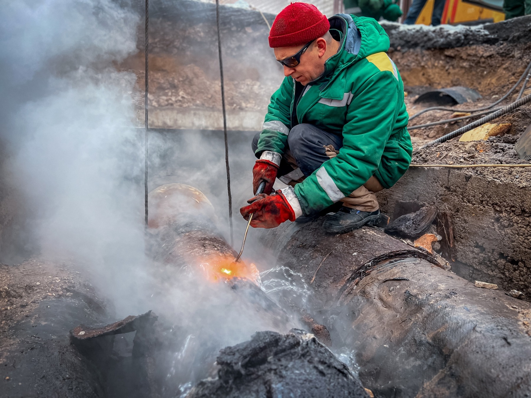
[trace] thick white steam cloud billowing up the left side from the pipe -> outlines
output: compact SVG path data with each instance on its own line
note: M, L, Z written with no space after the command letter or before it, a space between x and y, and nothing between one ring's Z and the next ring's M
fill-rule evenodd
M137 51L140 15L132 5L26 0L1 7L0 200L8 207L2 217L15 215L0 230L0 261L39 250L68 257L93 275L117 316L153 309L191 331L190 339L194 330L210 330L213 352L272 330L220 286L192 278L187 286L157 287L150 279L136 76L113 66Z

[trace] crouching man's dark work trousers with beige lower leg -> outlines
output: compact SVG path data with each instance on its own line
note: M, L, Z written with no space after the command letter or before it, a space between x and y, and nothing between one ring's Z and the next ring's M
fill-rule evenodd
M254 136L253 152L258 148L260 133ZM298 124L288 134L287 147L282 155L277 178L284 184L295 186L310 176L327 160L336 157L343 146L343 137L321 130L311 124ZM341 200L343 205L362 211L379 209L375 192L383 189L374 176Z

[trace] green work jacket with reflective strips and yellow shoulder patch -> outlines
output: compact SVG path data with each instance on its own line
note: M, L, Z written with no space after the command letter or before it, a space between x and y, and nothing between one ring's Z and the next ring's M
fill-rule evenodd
M386 54L389 36L372 18L337 14L329 21L341 37L338 52L306 86L292 77L282 81L255 152L258 157L263 151L284 153L289 131L299 123L342 135L337 157L295 185L303 215L338 202L373 175L390 188L412 155L404 84Z

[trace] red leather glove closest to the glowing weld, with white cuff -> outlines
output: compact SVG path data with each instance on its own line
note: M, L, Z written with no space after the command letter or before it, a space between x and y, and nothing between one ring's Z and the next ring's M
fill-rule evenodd
M295 212L282 192L277 191L271 195L260 194L248 202L248 206L239 209L245 220L249 220L251 213L254 213L251 220L253 228L275 228L284 221L295 221Z

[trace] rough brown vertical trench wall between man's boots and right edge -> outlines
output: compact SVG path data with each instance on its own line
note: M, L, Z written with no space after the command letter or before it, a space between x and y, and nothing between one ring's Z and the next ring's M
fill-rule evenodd
M531 188L516 181L466 169L415 168L378 196L391 218L400 215L404 201L449 213L455 239L455 262L448 259L452 271L531 297Z

